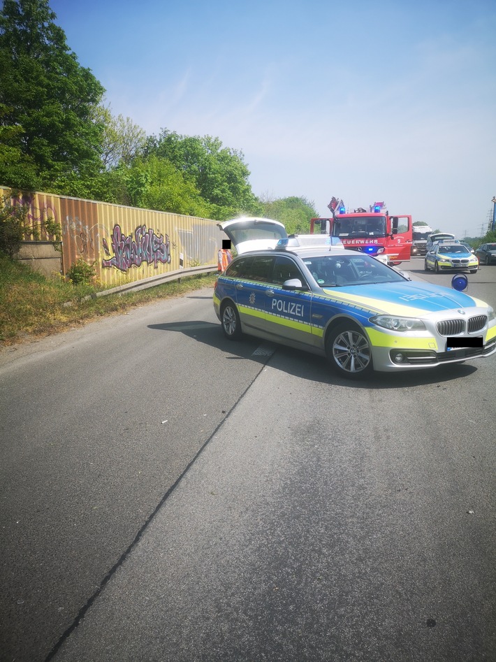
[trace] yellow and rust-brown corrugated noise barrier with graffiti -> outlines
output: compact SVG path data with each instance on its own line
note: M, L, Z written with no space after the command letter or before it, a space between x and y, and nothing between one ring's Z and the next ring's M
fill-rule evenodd
M13 194L7 187L0 187L0 194L13 205L26 206L41 240L54 240L48 220L59 224L62 273L83 259L94 265L103 285L122 291L130 283L152 287L147 284L154 279L198 273L196 268L214 271L226 238L217 221L206 218L47 193Z

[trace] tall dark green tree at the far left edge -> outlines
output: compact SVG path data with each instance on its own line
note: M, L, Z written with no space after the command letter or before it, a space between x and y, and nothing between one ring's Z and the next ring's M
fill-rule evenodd
M0 124L8 148L0 181L26 187L15 169L17 154L30 166L33 186L84 195L101 168L103 127L93 113L104 89L80 66L55 18L48 0L3 0Z

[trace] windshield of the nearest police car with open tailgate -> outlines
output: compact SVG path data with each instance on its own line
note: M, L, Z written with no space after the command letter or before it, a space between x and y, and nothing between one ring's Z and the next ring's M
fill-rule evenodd
M322 255L303 259L320 287L344 287L347 285L372 285L381 282L407 280L382 262L364 255Z

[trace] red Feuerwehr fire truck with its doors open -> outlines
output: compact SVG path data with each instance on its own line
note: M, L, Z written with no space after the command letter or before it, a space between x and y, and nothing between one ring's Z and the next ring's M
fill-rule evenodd
M391 264L410 259L412 243L411 216L391 216L384 202L369 210L361 207L347 212L342 201L333 198L328 204L331 218L312 218L310 233L339 237L345 248L371 255L385 254Z

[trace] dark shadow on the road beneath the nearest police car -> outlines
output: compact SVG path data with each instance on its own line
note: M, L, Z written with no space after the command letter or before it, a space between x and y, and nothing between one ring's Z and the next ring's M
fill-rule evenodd
M169 322L149 324L149 329L156 331L172 331L184 333L185 336L214 347L224 353L224 359L232 361L255 361L260 364L270 364L277 370L300 377L301 379L330 386L353 389L407 389L451 382L462 379L476 372L476 366L467 364L451 364L437 368L425 368L412 372L372 373L363 380L349 380L334 373L323 357L293 350L291 347L270 343L252 336L244 336L241 340L228 340L224 337L220 324L191 320L189 322ZM235 365L232 365L235 369ZM229 368L228 368L229 369Z

